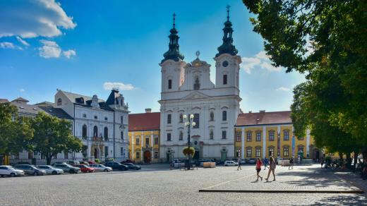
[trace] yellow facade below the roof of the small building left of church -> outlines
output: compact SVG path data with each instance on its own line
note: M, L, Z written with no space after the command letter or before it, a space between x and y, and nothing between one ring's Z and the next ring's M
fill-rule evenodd
M160 131L129 131L128 157L135 162L156 163L160 158Z

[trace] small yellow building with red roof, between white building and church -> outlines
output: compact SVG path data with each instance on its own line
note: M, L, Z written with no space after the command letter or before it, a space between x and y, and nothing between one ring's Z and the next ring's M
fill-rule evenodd
M128 115L128 157L136 162L154 163L160 159L160 112L145 109Z

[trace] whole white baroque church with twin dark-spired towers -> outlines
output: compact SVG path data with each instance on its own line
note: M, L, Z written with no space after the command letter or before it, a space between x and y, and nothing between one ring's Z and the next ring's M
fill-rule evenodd
M210 80L210 64L199 58L183 61L179 52L178 31L173 25L169 51L160 63L160 158L183 158L188 133L183 114L194 114L191 129L194 159L234 157L234 125L239 115L239 64L241 57L233 45L229 16L224 23L223 44L215 56L215 84ZM197 52L197 56L199 56Z

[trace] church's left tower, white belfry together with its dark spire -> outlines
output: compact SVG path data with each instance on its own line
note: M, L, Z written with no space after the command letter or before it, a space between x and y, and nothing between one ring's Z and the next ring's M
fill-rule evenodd
M175 25L176 14L174 13L174 24L170 30L169 37L169 50L163 54L164 59L161 61L162 67L162 93L164 92L176 92L183 84L185 78L185 71L183 66L186 62L183 61L183 54L179 51L179 35Z

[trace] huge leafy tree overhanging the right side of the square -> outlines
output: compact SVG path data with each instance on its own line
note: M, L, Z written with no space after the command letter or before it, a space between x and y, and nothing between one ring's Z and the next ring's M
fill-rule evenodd
M253 30L273 65L306 73L306 83L294 90L296 133L308 127L318 145L344 150L334 145L336 135L353 144L347 150L366 148L367 1L243 3L255 14Z

